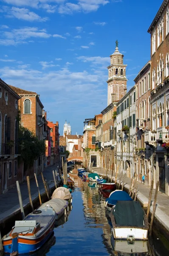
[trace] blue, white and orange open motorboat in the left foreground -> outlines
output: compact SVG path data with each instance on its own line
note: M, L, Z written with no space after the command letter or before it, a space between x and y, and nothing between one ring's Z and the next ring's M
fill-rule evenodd
M28 214L23 221L15 221L12 230L3 237L4 253L14 256L38 250L51 236L55 220L55 210L45 206Z

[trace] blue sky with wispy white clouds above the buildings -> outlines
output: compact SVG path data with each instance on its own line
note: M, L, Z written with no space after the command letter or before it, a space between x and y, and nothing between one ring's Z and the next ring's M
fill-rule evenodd
M50 121L82 134L107 106L115 40L128 90L150 59L147 33L162 0L0 0L0 78L40 94Z

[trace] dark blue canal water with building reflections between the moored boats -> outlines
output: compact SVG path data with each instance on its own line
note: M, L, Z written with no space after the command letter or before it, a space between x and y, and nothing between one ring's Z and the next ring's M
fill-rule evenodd
M56 223L53 236L34 256L166 256L158 237L150 242L113 242L111 221L106 217L104 197L92 183L71 175L75 182L72 210ZM136 249L137 248L137 249ZM150 251L152 249L152 252ZM137 253L135 253L135 251Z

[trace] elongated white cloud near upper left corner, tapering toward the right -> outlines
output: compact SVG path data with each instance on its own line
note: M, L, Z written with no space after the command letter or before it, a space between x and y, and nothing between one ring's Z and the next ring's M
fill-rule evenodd
M7 9L6 17L12 18L15 17L19 20L27 20L27 21L46 21L47 17L40 17L34 12L29 12L28 9L12 7L11 9Z

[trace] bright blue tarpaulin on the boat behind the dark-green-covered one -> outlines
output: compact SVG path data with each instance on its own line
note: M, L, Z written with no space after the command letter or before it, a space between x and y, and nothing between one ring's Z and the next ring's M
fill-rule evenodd
M115 205L117 201L132 201L132 198L125 191L118 190L114 191L105 201L108 201L108 204Z

